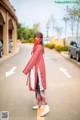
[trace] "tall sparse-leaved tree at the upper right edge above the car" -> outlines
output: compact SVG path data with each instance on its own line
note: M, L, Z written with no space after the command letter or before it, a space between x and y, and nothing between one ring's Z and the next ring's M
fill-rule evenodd
M77 1L78 2L78 1ZM69 22L72 36L74 34L74 28L76 30L76 38L79 37L79 26L80 26L80 5L76 4L73 6L73 8L69 8L67 11L67 14L69 16Z

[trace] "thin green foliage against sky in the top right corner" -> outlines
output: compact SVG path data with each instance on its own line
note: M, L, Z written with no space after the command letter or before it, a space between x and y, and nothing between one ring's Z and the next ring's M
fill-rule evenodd
M73 7L66 7L67 17L64 17L65 22L70 26L72 36L76 35L76 38L80 36L79 25L80 25L80 0L75 0L76 4ZM74 34L76 33L76 34Z

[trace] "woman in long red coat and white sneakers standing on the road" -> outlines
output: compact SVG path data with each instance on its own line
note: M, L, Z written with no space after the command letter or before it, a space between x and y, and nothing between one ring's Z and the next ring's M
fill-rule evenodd
M43 34L37 32L34 37L32 57L27 63L25 69L23 70L23 73L26 75L28 74L29 89L35 91L37 105L32 108L44 108L41 116L44 116L50 110L45 100L46 71L43 53Z

